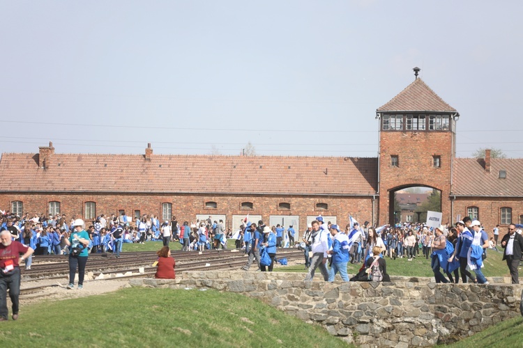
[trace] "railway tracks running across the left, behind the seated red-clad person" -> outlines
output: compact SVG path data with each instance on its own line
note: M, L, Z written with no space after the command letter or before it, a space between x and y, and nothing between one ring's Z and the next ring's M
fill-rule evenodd
M172 254L176 260L177 274L183 271L239 269L247 260L243 252L234 251L204 251L202 254L195 251L179 251ZM90 254L86 272L92 271L95 277L101 273L107 276L100 280L148 278L156 273L156 267L152 267L156 258L157 255L154 251L121 253L120 258L115 258L112 254ZM299 260L303 258L303 251L280 249L277 258ZM142 272L140 273L140 271ZM37 255L33 258L31 269L22 269L22 277L24 278L22 285L36 280L56 280L56 283L29 285L21 288L20 294L41 292L49 287L63 287L59 280L67 281L68 274L68 255ZM120 276L116 277L116 274L120 274Z

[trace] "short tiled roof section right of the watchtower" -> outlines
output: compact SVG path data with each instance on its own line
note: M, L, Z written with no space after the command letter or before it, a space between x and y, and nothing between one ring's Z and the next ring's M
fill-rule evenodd
M499 178L506 171L506 179ZM483 159L454 159L453 194L456 196L523 197L523 159L490 159L490 173Z

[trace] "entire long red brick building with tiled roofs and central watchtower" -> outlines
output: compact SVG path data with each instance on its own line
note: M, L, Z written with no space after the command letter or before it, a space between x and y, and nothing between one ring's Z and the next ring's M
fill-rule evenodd
M4 153L0 208L18 214L65 212L223 219L249 214L303 231L321 214L344 226L349 214L393 221L393 195L407 187L441 191L444 221L470 215L487 232L523 222L523 159L455 157L459 113L421 79L377 109L379 157L271 157ZM459 136L459 135L458 135Z

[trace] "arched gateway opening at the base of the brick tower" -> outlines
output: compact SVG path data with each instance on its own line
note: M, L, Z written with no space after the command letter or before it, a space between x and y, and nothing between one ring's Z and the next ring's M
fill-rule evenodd
M404 185L388 192L388 223L424 223L427 211L441 212L441 190L435 187Z

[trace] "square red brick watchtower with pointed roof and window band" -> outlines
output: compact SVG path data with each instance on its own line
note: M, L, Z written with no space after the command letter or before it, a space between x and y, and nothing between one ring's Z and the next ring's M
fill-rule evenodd
M376 110L379 120L379 224L395 223L394 193L407 187L441 191L443 221L451 221L450 190L457 111L414 68L414 82Z

